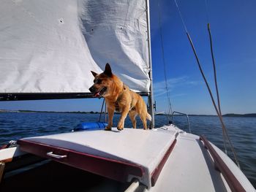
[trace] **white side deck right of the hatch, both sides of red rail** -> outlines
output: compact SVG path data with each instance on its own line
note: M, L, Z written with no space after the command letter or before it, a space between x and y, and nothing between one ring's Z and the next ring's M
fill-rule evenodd
M173 130L173 127L167 127ZM211 144L212 145L212 144ZM212 145L246 191L252 184L233 161ZM231 191L223 175L214 168L211 155L194 134L179 131L176 147L165 163L154 188L149 191Z

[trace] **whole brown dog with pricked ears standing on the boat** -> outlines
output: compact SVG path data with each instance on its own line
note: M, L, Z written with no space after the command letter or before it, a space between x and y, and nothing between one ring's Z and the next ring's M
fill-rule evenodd
M136 115L140 116L143 128L147 129L147 121L151 120L151 115L147 112L147 107L142 97L129 90L115 74L112 73L110 65L106 64L105 71L101 74L91 72L94 75L94 85L89 88L94 97L103 96L108 107L108 126L105 130L111 130L113 126L114 111L121 112L121 118L117 128L121 131L124 128L124 120L129 114L133 128L136 128Z

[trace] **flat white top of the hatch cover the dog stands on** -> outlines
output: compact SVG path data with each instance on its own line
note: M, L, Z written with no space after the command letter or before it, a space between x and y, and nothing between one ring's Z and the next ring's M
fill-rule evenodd
M151 174L157 168L166 151L175 139L176 131L145 131L124 128L123 131L78 131L67 134L53 134L30 137L21 140L75 150L80 153L124 161L143 166L141 183L151 187ZM129 178L132 180L133 176Z

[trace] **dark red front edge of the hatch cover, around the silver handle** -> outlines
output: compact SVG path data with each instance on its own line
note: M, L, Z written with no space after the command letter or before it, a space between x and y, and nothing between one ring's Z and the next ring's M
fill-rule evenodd
M83 169L121 182L126 182L130 174L137 177L143 177L144 174L143 166L138 164L131 164L124 161L104 158L97 155L81 153L75 150L54 147L27 140L18 140L17 143L20 145L20 150L28 153L39 155L43 158L50 158L62 164L74 166L78 169ZM46 153L50 151L57 155L67 155L67 158L52 158L46 155Z

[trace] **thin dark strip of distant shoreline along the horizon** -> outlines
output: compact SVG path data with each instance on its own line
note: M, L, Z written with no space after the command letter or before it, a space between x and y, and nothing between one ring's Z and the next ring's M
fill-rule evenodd
M56 112L56 111L34 111L34 110L0 110L0 112L51 112L51 113L81 113L81 114L99 114L100 112ZM157 115L165 115L165 114L157 114ZM217 115L193 115L190 114L189 116L217 116ZM244 118L256 118L256 113L246 113L246 114L236 114L236 113L227 113L222 115L223 117L244 117Z

